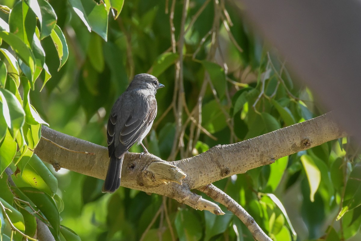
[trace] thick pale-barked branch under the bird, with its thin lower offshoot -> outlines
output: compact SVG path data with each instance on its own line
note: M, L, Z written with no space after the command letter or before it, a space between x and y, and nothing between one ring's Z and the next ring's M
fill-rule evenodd
M205 189L204 186L255 167L272 164L278 158L345 135L334 122L332 114L327 113L239 143L217 145L195 157L179 161L165 162L152 154L140 157L139 153L126 153L121 185L174 198L194 209L224 214L218 205L205 202L201 196L190 191L195 188L203 190L213 200L221 202L237 216L242 216L241 220L247 227L251 227L250 231L257 240L269 240L257 224L250 226L247 223L250 216L238 204L235 205L234 200L227 201L230 198L226 194L215 189ZM109 162L107 148L47 127L42 128L42 137L35 153L43 161L51 163L56 170L63 167L105 179ZM169 184L165 185L168 181Z

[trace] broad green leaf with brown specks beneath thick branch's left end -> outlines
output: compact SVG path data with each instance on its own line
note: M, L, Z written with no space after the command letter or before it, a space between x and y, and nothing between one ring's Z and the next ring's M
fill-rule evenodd
M58 189L58 180L36 154L31 156L22 175L14 179L14 183L17 187L36 188L50 196L54 196Z

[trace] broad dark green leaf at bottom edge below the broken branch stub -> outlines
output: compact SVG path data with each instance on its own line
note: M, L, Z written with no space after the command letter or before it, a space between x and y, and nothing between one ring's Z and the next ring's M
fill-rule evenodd
M174 224L179 241L198 241L201 239L202 232L198 228L199 220L192 212L186 210L178 211Z

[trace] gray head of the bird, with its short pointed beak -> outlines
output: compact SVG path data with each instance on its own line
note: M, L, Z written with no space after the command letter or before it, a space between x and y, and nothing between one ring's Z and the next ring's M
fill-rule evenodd
M149 89L149 91L157 92L157 89L163 88L164 85L159 83L159 80L150 74L137 74L129 84L127 91L132 89Z

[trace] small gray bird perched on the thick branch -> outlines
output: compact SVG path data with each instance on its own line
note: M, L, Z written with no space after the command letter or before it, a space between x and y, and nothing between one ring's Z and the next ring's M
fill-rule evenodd
M158 79L150 74L137 74L113 105L107 126L110 162L102 192L115 192L120 186L124 154L135 144L142 143L151 130L157 115L157 89L163 88Z

